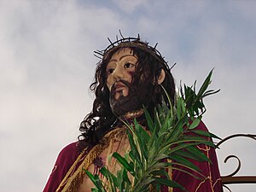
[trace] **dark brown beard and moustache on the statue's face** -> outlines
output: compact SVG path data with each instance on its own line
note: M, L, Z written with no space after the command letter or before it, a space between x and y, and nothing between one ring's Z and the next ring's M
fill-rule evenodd
M115 84L113 84L110 95L109 104L112 112L117 115L123 115L127 112L136 111L143 106L148 106L150 94L153 90L153 84L147 84L139 82L138 84L131 84L125 80L119 80L122 84L128 88L128 95L123 96L123 90L115 90ZM115 99L116 92L119 92L119 98Z

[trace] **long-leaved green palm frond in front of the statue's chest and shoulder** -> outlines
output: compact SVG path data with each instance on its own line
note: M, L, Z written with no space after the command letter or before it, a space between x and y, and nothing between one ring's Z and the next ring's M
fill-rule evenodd
M93 191L142 192L152 187L160 191L160 185L183 189L183 186L172 181L166 168L179 169L190 175L191 173L185 170L191 170L201 175L199 168L186 158L211 162L196 146L206 144L214 147L211 140L204 137L218 137L207 131L195 129L200 124L203 113L206 112L203 98L219 91L207 90L211 77L212 71L197 94L195 84L191 87L184 84L183 89L180 89L180 95L176 96L175 105L170 105L171 108L168 108L166 103L158 106L154 110L154 118L144 108L149 131L139 125L137 119L134 119L132 125L126 124L131 150L125 157L113 153L113 158L121 166L117 175L109 172L107 167L102 167L100 172L107 178L107 184L103 183L97 175L85 171L95 184L96 188ZM193 133L193 136L188 136L189 132ZM186 169L177 168L177 165Z

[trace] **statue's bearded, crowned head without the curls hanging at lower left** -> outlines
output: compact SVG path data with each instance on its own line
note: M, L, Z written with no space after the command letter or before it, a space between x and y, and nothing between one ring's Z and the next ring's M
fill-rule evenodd
M97 51L102 55L96 79L108 95L112 112L119 116L140 108L154 108L166 94L173 102L175 85L172 73L160 52L140 38L122 38ZM101 84L102 83L102 84Z

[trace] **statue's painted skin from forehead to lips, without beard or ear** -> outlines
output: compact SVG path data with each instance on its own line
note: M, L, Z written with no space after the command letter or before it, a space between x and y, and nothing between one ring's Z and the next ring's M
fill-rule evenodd
M106 67L107 86L115 100L129 95L128 83L131 84L136 67L137 56L130 48L119 49L109 60Z

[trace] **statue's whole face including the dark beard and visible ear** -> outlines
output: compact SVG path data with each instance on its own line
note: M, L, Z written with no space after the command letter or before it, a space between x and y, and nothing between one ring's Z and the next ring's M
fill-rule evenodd
M117 50L108 61L106 73L109 104L117 116L150 104L148 96L153 93L155 85L161 84L165 79L165 72L162 69L157 81L153 77L152 81L148 80L149 77L143 73L141 77L137 77L138 82L133 82L138 65L140 63L137 55L134 55L130 48Z

